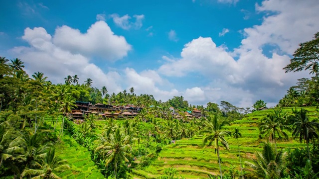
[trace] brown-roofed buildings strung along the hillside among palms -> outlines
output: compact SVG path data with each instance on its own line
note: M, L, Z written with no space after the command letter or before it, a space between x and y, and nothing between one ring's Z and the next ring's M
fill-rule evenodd
M111 104L91 104L90 102L82 102L76 101L75 105L77 106L72 110L73 119L84 119L85 114L96 114L99 115L99 118L130 118L138 115L140 110L143 107L138 107L135 105L111 105ZM174 109L173 107L169 107L171 114L177 118L183 118L182 114L178 112L178 109ZM187 118L200 118L203 117L200 110L194 108L192 111L186 111L184 114Z

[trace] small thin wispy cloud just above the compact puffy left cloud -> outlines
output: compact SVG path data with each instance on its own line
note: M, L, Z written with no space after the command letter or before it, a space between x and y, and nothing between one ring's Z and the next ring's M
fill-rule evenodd
M123 15L122 17L120 17L119 14L114 13L110 15L111 18L113 18L113 22L125 29L125 30L129 30L132 27L135 29L140 29L143 26L143 20L145 18L145 16L142 15L133 15L133 17L135 18L135 22L131 22L130 19L132 18L131 16L129 16L128 14Z

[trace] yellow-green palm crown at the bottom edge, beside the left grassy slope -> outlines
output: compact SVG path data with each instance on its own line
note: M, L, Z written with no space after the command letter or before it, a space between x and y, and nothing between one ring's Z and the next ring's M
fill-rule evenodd
M35 176L34 179L61 179L57 173L69 170L66 160L61 160L56 154L55 149L50 148L43 157L43 165L40 169L26 169L22 177Z

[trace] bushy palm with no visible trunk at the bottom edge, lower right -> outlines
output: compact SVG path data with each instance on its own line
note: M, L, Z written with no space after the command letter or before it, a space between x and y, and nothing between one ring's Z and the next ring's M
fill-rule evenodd
M280 179L280 174L285 168L286 152L277 152L270 143L264 143L263 152L256 152L253 163L246 162L263 179Z

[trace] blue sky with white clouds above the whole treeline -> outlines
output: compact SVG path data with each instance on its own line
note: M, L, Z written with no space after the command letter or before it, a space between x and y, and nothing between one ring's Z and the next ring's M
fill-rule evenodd
M275 106L285 73L319 31L318 0L0 0L0 56L52 83L87 78L193 105Z

